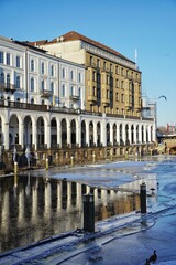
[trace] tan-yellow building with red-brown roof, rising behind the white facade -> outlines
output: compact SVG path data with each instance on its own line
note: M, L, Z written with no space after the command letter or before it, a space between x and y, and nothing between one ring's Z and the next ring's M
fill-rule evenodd
M141 72L134 62L75 31L33 44L86 66L86 110L141 117Z

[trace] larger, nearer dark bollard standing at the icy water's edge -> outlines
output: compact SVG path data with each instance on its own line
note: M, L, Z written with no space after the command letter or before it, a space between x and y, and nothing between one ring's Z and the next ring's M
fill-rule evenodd
M94 194L84 195L84 231L95 232L95 199Z

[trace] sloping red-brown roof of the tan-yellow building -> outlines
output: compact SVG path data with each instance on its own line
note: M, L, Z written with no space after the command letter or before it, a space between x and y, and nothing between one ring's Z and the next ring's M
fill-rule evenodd
M54 40L52 41L46 41L46 40L43 40L43 41L37 41L37 42L31 42L32 45L47 45L47 44L54 44L54 43L57 43L58 42L58 39L61 40L61 42L69 42L69 41L77 41L77 40L80 40L80 41L84 41L84 42L87 42L94 46L97 46L99 49L102 49L103 51L106 52L109 52L113 55L117 55L117 56L120 56L122 59L125 59L130 62L133 62L131 60L129 60L128 57L123 56L121 53L114 51L113 49L109 47L109 46L106 46L105 44L100 43L100 42L97 42L97 41L94 41L85 35L81 35L80 33L76 32L76 31L69 31L68 33L64 34L64 35L61 35L59 38L55 38ZM134 63L134 62L133 62Z

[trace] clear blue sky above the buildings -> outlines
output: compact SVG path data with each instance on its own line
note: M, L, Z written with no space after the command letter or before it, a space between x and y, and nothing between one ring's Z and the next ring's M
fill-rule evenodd
M138 49L142 92L157 102L157 125L176 124L176 0L0 0L2 36L52 40L73 30L132 61Z

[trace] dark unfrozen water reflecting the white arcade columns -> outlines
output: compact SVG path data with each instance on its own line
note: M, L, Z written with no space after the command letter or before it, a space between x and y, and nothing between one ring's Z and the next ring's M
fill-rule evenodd
M42 177L0 178L0 252L82 227L82 194L95 195L96 221L140 209L132 192Z

